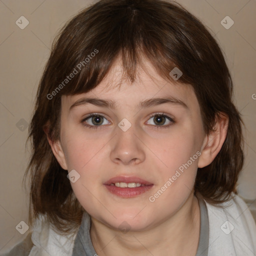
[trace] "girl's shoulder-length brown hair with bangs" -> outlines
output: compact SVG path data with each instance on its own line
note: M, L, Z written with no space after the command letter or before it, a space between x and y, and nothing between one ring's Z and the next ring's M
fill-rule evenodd
M25 176L28 171L31 174L29 223L32 215L42 213L60 233L69 233L80 225L84 209L72 191L67 172L54 157L43 127L48 123L49 138L57 140L61 95L96 87L119 55L123 74L131 82L143 57L167 81L175 82L169 72L178 67L183 73L179 84L188 83L194 89L205 134L213 129L221 112L229 117L222 148L211 164L198 168L194 190L212 204L236 193L243 165L243 122L232 103L232 80L213 36L175 2L100 0L60 30L39 82L29 126L32 155L25 172Z

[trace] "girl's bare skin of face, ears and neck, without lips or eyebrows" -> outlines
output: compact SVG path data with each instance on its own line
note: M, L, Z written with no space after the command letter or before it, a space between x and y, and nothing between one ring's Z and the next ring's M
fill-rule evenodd
M62 95L60 140L48 141L61 167L68 172L75 169L80 174L71 186L91 216L90 236L98 255L194 256L200 230L199 204L193 194L196 171L197 167L210 164L219 152L228 118L223 115L216 122L216 131L205 135L192 87L167 83L149 63L145 63L145 71L139 69L139 80L132 84L125 81L119 88L115 86L122 74L117 61L93 90ZM182 100L188 109L169 103L137 107L142 100L166 95ZM83 96L115 100L117 107L87 104L69 110ZM83 125L93 125L93 118L81 122L92 112L106 117L100 119L103 121L101 129ZM175 122L167 127L171 122L163 119L162 126L157 129L157 122L150 118L155 112L163 112ZM125 132L117 125L122 118L131 124ZM201 155L154 202L150 202L149 196L196 151ZM136 197L121 198L108 192L103 185L117 175L135 175L154 186ZM119 228L123 221L129 225L125 233Z

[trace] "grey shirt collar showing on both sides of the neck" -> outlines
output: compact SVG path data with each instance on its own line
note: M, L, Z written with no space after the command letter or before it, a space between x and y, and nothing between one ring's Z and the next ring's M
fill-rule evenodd
M209 243L209 221L208 212L205 201L200 194L196 194L200 207L200 235L199 243L195 256L207 256L208 255L208 243ZM82 222L76 234L74 240L74 246L72 256L96 256L97 253L92 245L90 239L90 224L91 219L89 214L84 211L82 216Z

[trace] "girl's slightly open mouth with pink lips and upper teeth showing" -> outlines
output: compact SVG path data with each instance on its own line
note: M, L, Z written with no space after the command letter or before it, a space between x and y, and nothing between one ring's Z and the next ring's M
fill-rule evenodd
M104 183L109 192L128 198L148 191L154 184L136 176L117 176Z

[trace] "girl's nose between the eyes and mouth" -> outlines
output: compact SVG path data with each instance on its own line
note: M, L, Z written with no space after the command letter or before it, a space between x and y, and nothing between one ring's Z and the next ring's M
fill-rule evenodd
M145 159L143 140L141 135L131 125L126 131L116 127L117 134L112 140L110 158L117 164L138 164Z

